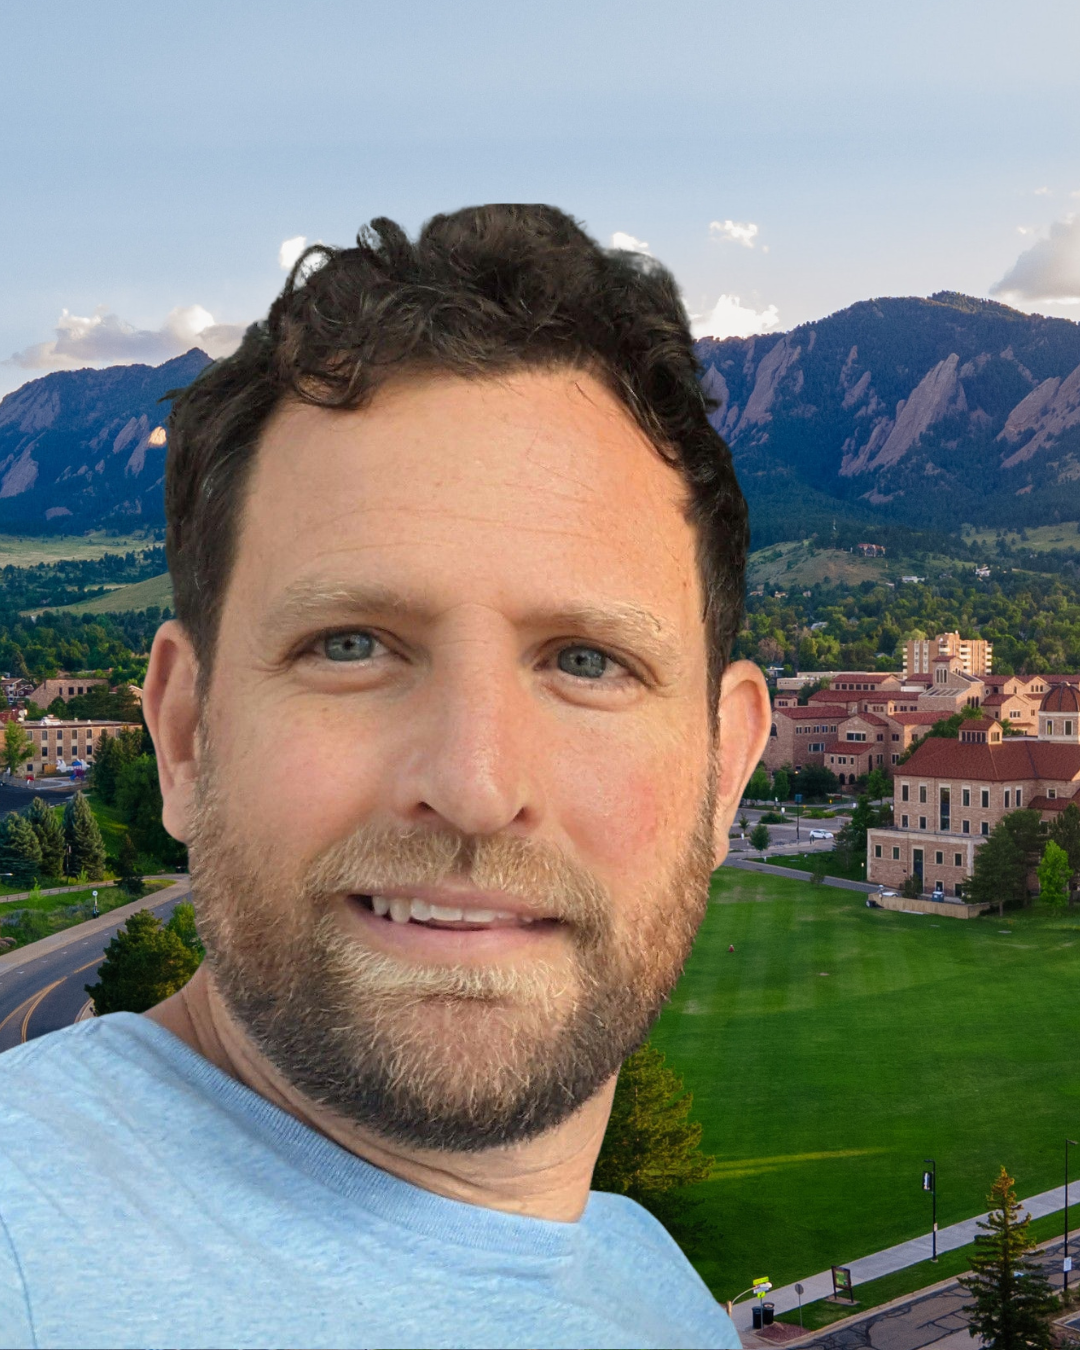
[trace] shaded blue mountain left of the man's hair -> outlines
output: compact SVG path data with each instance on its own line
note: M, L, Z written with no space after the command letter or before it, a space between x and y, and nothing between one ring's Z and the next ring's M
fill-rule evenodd
M63 370L0 402L0 531L81 533L163 520L169 389L209 363Z

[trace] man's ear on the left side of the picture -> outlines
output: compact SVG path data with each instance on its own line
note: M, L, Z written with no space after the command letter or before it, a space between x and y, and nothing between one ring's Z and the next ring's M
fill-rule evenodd
M143 686L143 716L158 755L162 824L188 842L190 806L198 776L196 686L198 660L182 624L169 620L154 634Z

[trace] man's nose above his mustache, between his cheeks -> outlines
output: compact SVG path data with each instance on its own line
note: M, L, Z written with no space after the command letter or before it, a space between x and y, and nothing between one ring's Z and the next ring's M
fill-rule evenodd
M417 824L433 813L463 834L539 818L540 717L537 691L509 653L459 652L432 675L406 733L405 811Z

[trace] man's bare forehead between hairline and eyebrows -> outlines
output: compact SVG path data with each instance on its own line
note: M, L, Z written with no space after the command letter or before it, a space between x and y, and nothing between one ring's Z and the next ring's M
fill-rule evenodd
M679 474L587 374L402 379L360 410L278 410L234 580L256 605L298 580L408 582L447 603L637 590L688 617L684 501Z

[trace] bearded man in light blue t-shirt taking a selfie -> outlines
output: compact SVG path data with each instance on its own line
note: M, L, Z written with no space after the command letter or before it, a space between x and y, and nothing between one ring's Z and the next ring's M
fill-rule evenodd
M736 1346L591 1193L768 733L686 315L562 212L309 250L174 401L207 960L0 1057L0 1343Z

